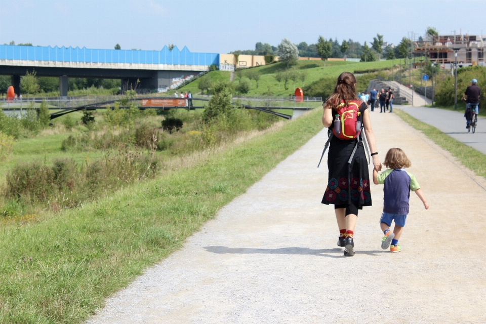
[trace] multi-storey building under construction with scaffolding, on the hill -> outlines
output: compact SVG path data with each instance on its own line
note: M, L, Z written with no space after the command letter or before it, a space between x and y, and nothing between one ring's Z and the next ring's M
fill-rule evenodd
M450 63L455 62L454 52L457 52L457 62L460 66L486 66L484 63L486 37L484 36L427 35L426 39L413 42L413 46L414 56L425 55L430 61L442 67L448 67Z

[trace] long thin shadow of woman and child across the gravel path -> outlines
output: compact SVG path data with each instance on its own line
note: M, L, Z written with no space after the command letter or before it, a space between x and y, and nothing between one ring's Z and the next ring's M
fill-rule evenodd
M227 247L205 247L206 251L217 254L299 254L299 255L316 255L329 258L343 257L343 249L309 249L309 248L280 248L280 249L256 249L256 248L227 248ZM377 256L380 253L387 251L356 251L356 254L368 254ZM332 253L326 254L326 253Z

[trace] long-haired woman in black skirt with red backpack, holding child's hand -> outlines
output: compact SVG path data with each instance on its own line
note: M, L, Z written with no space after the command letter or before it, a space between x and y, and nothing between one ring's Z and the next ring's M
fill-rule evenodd
M354 255L353 235L358 210L363 206L371 206L368 161L363 146L364 138L360 134L360 125L363 125L365 129L375 170L381 170L381 163L376 152L375 136L371 127L370 112L367 104L357 98L355 85L356 78L352 73L341 73L333 94L323 105L324 114L322 115L322 124L332 132L330 133L332 138L328 155L328 186L322 198L322 204L334 205L340 232L338 246L345 248L345 256ZM356 107L354 108L356 116L353 116L350 110L343 113L343 107L346 109L353 105ZM337 120L337 118L340 119ZM349 123L352 118L356 120L356 133L355 138L351 139L354 136L349 135L349 128L344 130L346 126L344 120ZM335 125L339 130L335 130ZM344 134L344 138L348 139L341 139L345 132L348 134Z

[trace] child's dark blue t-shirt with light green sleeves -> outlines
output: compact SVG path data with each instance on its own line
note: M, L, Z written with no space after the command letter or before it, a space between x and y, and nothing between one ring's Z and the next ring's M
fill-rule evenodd
M387 169L377 177L379 184L385 184L383 191L383 212L407 215L409 213L410 190L420 189L415 176L405 169Z

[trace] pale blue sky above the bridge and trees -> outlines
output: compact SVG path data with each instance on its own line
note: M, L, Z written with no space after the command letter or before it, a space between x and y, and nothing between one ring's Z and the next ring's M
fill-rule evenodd
M427 26L443 33L486 34L486 1L459 0L0 0L0 44L229 53L298 44L319 35L398 43ZM476 14L474 14L476 13ZM418 36L417 36L418 37Z

